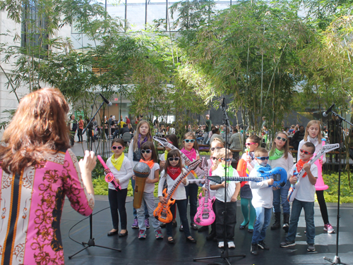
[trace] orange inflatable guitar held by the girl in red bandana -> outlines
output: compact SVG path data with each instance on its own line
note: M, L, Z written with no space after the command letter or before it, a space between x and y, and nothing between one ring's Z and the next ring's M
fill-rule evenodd
M157 208L155 209L155 211L153 211L153 216L155 216L158 221L162 223L170 223L173 220L173 214L170 211L170 207L175 203L175 199L172 199L172 195L174 191L177 190L177 187L181 183L181 180L186 178L186 176L189 175L192 170L196 169L196 167L200 163L200 159L191 162L187 170L177 178L169 192L167 193L167 188L163 190L163 197L165 199L165 202L167 203L163 204L162 202L158 202Z

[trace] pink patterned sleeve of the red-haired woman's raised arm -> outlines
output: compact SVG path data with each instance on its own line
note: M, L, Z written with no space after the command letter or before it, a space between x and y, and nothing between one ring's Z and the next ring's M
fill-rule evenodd
M66 151L63 173L64 193L71 207L78 213L89 216L95 207L95 196L88 194L85 189L77 158L71 149Z

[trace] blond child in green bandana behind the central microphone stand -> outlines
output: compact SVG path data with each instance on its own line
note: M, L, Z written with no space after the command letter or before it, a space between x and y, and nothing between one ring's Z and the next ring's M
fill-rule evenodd
M225 176L225 167L227 167L228 176L239 176L237 170L232 168L232 152L222 148L217 154L217 168L212 175ZM225 187L227 187L227 198L225 198ZM216 184L210 181L210 189L217 190L215 208L216 208L216 234L218 247L224 247L224 223L226 223L226 239L229 248L235 248L234 245L234 228L237 223L237 197L240 191L239 181L229 181L227 185L225 181L222 184ZM226 200L227 199L227 200ZM225 220L225 204L227 203L227 219Z

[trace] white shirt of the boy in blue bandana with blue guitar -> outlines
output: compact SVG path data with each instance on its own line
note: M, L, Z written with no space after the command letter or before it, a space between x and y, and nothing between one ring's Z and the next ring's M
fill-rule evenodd
M258 171L253 169L250 172L249 177L257 177ZM273 190L272 187L268 187L268 180L263 180L261 182L249 181L251 188L251 193L253 194L253 199L251 203L254 208L263 207L266 209L272 208L273 205Z

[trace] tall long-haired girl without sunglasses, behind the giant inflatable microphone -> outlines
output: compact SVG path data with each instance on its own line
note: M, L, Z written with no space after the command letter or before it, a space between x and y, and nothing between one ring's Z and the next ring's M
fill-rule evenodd
M152 142L152 135L150 130L150 124L147 121L140 121L136 128L136 134L130 142L128 147L128 159L132 162L134 167L141 159L141 145L144 142ZM135 180L131 179L131 185L133 192L135 192ZM148 209L145 207L145 226L150 228ZM138 228L138 221L136 216L136 209L133 208L133 225L131 228Z

